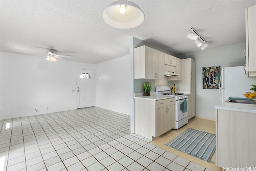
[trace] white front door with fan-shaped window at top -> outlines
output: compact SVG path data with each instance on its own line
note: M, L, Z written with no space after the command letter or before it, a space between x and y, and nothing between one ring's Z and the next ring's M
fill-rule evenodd
M95 104L94 71L77 69L77 108Z

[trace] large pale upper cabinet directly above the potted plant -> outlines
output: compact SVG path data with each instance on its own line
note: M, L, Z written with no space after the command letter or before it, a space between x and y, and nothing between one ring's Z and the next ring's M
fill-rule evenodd
M134 48L134 78L164 79L164 53L148 46Z

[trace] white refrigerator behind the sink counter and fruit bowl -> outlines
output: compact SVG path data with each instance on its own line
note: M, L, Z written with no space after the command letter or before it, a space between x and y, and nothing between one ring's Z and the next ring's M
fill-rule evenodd
M252 84L256 84L256 77L248 78L244 66L221 68L220 101L228 97L244 97L245 92L252 92Z

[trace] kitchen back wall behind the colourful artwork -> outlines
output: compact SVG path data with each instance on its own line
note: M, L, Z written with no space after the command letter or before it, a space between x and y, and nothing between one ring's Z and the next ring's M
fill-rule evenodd
M245 44L238 44L178 56L196 60L196 116L215 119L214 106L220 103L218 89L202 88L202 68L243 66L246 63L244 50Z

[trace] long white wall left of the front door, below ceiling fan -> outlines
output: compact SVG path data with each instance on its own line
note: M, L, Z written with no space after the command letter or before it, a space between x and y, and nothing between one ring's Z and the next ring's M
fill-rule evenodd
M5 52L0 61L0 119L76 109L76 69L95 67Z

